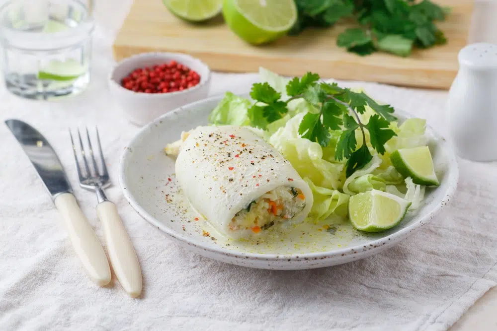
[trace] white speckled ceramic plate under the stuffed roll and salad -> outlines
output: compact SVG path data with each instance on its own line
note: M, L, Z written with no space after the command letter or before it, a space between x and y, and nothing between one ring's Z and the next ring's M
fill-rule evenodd
M265 269L307 269L339 265L379 253L400 243L428 223L451 199L457 187L458 165L445 139L426 132L440 187L428 189L422 206L408 213L397 227L378 234L354 230L350 222L297 227L282 235L269 233L259 242L235 242L222 237L177 193L174 160L163 148L182 131L206 125L221 97L201 100L165 114L144 127L125 148L119 181L131 206L149 223L181 246L208 258ZM400 119L409 116L396 112ZM269 229L267 232L271 231Z

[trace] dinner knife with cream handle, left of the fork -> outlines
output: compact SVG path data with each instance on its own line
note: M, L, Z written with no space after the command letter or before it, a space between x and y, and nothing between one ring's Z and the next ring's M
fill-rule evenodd
M69 239L90 279L100 286L110 282L110 266L102 245L83 214L64 168L50 143L40 132L19 120L5 124L15 136L62 214Z

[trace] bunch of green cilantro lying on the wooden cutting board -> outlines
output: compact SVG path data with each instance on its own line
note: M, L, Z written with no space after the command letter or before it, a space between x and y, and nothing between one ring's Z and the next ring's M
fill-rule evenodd
M340 33L337 46L364 56L376 51L406 57L414 47L446 42L435 25L450 8L430 0L295 0L298 19L290 34L308 27L330 27L340 19L355 19L357 27Z

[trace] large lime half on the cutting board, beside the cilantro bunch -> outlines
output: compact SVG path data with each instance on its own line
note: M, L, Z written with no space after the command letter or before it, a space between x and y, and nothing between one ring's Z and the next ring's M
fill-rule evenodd
M285 35L297 21L294 0L224 0L223 15L230 29L250 44Z

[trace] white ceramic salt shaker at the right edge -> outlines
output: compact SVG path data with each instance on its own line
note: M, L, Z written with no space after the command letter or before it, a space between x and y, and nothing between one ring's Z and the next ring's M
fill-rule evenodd
M497 45L471 44L458 58L447 102L456 152L473 161L497 160Z

